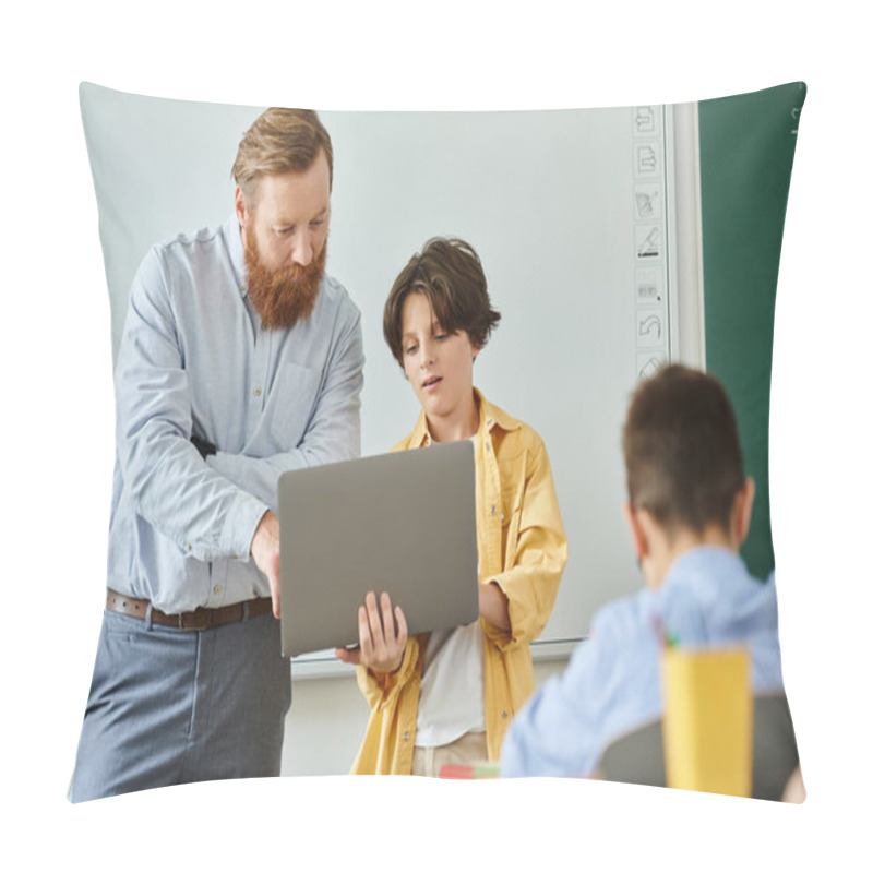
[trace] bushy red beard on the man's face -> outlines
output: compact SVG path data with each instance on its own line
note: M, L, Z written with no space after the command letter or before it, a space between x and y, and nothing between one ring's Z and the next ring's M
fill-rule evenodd
M327 261L327 242L306 266L292 264L268 270L261 261L258 243L246 242L248 294L261 324L270 328L288 330L312 314Z

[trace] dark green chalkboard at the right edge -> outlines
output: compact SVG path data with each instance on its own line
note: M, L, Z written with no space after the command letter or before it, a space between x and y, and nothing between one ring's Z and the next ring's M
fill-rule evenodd
M773 320L802 82L698 104L706 369L737 411L755 480L743 558L774 567L768 438Z

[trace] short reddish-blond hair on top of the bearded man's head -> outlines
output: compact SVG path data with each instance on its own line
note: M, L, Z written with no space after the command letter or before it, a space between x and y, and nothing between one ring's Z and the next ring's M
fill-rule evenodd
M324 151L334 180L331 135L312 109L272 108L262 112L242 136L231 175L252 205L258 180L279 172L304 172Z

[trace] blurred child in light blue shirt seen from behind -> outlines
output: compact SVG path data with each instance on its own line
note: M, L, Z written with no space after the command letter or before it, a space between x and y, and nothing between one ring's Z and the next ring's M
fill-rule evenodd
M739 554L754 483L721 385L682 366L636 390L623 431L624 511L646 587L603 607L563 674L518 714L504 776L597 776L607 748L662 715L660 647L743 644L755 694L781 693L773 574Z

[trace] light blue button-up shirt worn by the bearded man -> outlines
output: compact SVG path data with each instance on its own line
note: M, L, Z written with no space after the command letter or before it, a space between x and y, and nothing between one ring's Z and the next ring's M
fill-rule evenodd
M108 586L169 613L268 597L255 528L283 471L360 454L362 384L360 312L330 276L309 319L264 330L235 215L154 247L116 366Z

